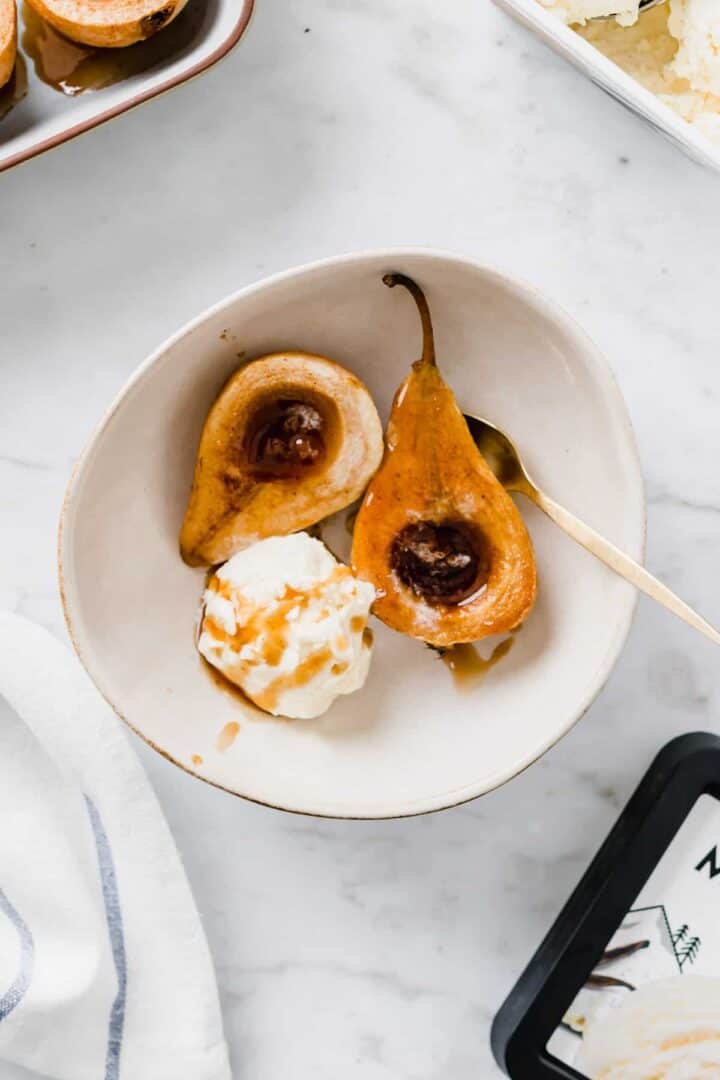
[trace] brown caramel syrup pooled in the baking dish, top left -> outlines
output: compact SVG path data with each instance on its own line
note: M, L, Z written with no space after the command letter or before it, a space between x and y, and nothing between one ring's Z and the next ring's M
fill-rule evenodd
M105 90L180 55L198 38L205 13L202 0L190 0L169 26L147 41L125 49L96 49L64 38L24 3L22 48L42 82L74 96L89 90Z

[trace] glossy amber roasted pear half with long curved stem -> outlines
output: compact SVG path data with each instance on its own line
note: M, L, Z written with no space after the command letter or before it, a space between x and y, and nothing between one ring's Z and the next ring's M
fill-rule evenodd
M434 646L513 630L535 598L535 562L520 514L480 456L440 375L430 310L412 294L423 351L395 395L382 464L357 514L352 563L373 612Z

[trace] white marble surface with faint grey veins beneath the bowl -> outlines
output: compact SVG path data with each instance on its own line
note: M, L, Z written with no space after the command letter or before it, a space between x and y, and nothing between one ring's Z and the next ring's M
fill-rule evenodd
M534 282L606 351L648 564L720 621L718 184L488 0L257 0L202 80L0 177L0 604L64 633L68 472L167 334L271 271L418 244ZM409 821L283 816L137 743L234 1075L499 1076L493 1013L655 751L717 727L719 671L643 600L570 737L495 794Z

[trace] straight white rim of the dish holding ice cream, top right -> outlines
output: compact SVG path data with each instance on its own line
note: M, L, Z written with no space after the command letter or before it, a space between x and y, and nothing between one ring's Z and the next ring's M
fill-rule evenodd
M579 33L565 26L538 3L538 0L494 0L494 2L522 26L532 30L556 53L570 60L621 105L637 112L662 132L684 153L703 165L720 171L720 147L710 143L705 135L687 123L655 94L626 75Z

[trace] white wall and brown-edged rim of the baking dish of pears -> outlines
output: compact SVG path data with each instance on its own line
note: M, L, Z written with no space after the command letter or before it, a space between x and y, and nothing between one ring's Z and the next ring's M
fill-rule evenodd
M21 3L17 70L19 79L27 82L27 92L6 114L3 116L4 108L0 108L0 172L206 71L240 41L253 4L254 0L191 0L174 24L151 39L161 43L167 40L166 35L174 33L178 42L176 51L163 50L166 55L146 70L130 75L114 85L68 95L38 78L37 65L24 48L28 33L26 21L31 12ZM189 32L177 33L175 24L180 24L186 13ZM103 52L121 54L127 50Z

